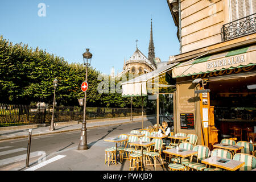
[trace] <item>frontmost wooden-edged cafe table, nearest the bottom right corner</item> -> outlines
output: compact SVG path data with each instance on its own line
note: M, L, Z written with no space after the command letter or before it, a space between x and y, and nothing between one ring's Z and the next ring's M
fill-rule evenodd
M245 162L241 162L233 159L221 158L218 156L211 156L210 158L201 160L201 163L217 168L226 169L228 171L236 171L245 165Z

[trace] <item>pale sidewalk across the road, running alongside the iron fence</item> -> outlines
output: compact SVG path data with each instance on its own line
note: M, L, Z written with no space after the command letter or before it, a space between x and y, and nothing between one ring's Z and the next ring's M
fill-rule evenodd
M155 119L155 117L143 117L143 121L148 121L151 119ZM94 121L94 122L86 122L86 128L92 129L94 127L104 127L104 126L111 126L111 125L119 125L122 123L131 123L131 122L141 122L142 118L134 118L133 121L130 119L116 119L110 121ZM81 130L82 123L75 124L75 125L61 125L55 126L54 131L49 131L49 126L46 127L38 127L32 129L32 136L39 136L39 135L48 135L54 133L63 133L68 131L79 131ZM10 140L10 139L17 139L17 138L26 138L28 137L28 129L20 129L20 130L4 130L0 131L0 141L2 140Z

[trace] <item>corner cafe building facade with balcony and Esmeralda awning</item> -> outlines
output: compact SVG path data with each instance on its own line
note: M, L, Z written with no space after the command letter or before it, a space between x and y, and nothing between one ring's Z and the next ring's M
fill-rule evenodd
M180 54L169 63L176 80L175 133L197 134L210 149L255 132L256 1L167 0ZM253 86L254 85L254 86ZM185 115L192 119L184 122Z

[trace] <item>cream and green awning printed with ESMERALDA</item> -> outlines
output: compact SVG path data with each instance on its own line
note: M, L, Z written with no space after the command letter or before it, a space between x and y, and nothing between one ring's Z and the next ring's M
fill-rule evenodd
M256 45L200 57L172 69L172 77L184 77L256 65Z

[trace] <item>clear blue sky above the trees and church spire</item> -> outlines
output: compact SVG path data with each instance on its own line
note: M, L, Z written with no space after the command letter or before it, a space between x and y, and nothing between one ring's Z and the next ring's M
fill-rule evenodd
M45 16L39 3L46 5ZM92 67L121 72L123 60L138 48L148 56L150 19L155 56L167 61L179 54L174 20L166 0L4 0L0 1L0 35L10 42L39 47L69 63L83 63L90 48Z

